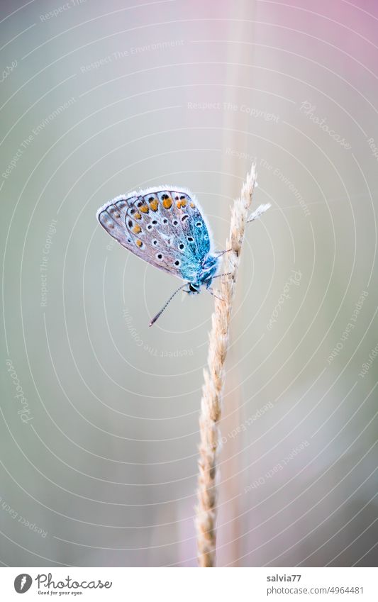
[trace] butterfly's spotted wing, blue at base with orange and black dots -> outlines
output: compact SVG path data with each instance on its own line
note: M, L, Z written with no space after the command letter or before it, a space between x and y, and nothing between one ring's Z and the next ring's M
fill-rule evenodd
M123 247L189 282L211 249L209 228L189 191L164 186L118 196L97 217Z

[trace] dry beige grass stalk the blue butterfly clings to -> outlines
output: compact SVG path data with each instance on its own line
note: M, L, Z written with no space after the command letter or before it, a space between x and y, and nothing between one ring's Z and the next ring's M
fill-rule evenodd
M242 187L240 199L232 208L230 234L223 255L223 272L228 277L221 278L222 300L215 299L209 335L208 366L204 369L201 414L199 430L199 481L198 505L196 507L197 553L200 567L215 567L216 564L216 481L217 455L219 448L218 423L221 419L221 396L225 380L224 364L228 347L228 330L235 296L240 251L243 245L248 210L252 202L255 186L255 165L252 165Z

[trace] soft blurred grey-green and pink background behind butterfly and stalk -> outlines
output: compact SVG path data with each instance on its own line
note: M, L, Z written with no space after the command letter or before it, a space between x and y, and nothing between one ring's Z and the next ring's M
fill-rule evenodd
M251 162L218 564L377 563L373 0L1 2L0 562L196 566L213 299L96 210L184 186L218 249Z

